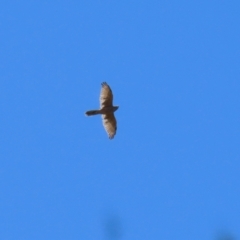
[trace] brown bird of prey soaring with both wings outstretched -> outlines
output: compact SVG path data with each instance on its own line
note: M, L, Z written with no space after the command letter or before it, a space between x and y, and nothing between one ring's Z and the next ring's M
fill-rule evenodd
M118 106L113 106L113 94L112 90L106 82L102 83L102 89L100 93L100 109L90 110L85 114L87 116L93 116L97 114L102 115L103 126L110 139L113 139L117 131L117 121L114 116L114 112L118 109Z

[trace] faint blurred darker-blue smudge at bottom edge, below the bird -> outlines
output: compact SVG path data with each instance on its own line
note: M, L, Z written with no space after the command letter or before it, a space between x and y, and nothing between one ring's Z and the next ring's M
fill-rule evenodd
M116 215L108 216L105 221L105 233L109 240L118 240L122 237L121 220Z

